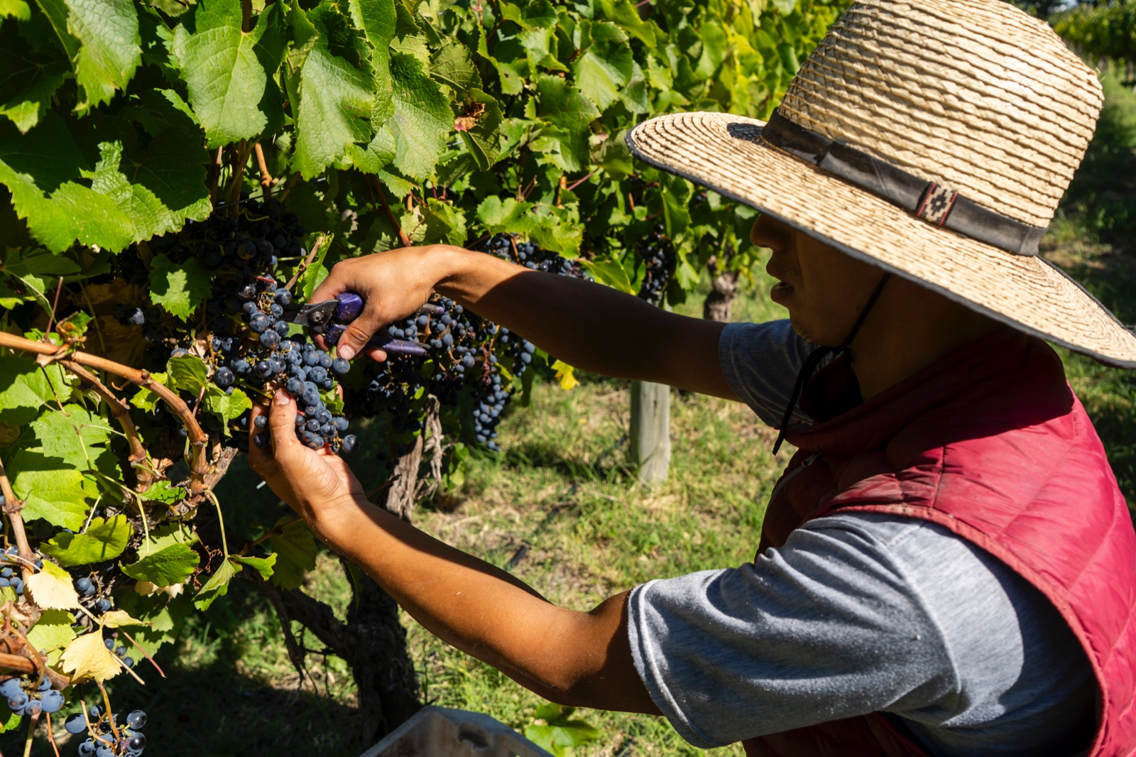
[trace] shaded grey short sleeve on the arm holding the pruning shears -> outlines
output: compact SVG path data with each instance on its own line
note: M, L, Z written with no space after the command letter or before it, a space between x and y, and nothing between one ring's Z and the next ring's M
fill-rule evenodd
M726 382L774 427L780 425L796 374L812 349L815 346L797 336L788 321L732 323L718 340ZM800 411L796 417L809 421Z

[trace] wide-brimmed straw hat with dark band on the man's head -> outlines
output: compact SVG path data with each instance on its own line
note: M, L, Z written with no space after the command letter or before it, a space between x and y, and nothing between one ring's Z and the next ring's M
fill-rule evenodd
M1003 0L862 0L768 124L661 116L646 163L1021 331L1136 367L1136 335L1037 255L1102 103L1093 72Z

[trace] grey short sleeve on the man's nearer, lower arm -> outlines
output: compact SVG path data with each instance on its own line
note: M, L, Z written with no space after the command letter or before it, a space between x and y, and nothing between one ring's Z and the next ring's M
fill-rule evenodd
M642 584L628 635L652 699L701 748L925 707L957 687L934 619L870 524L813 522L754 564Z

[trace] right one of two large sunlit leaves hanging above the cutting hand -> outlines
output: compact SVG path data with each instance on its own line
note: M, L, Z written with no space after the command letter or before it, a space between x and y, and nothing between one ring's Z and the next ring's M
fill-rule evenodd
M416 182L434 172L453 127L450 102L421 61L411 55L391 56L394 115L386 122L394 134L394 167Z

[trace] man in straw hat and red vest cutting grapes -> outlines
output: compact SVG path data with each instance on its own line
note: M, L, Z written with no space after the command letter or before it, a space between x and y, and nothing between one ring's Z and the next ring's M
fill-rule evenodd
M252 464L427 629L554 701L751 755L1131 754L1136 538L1039 339L1136 366L1136 336L1037 257L1100 102L1009 3L864 0L769 124L627 139L763 211L788 323L722 327L450 247L341 263L315 292L366 298L349 358L437 291L586 371L747 402L799 448L754 563L575 612L367 502L296 441L286 393L257 410L273 447Z

